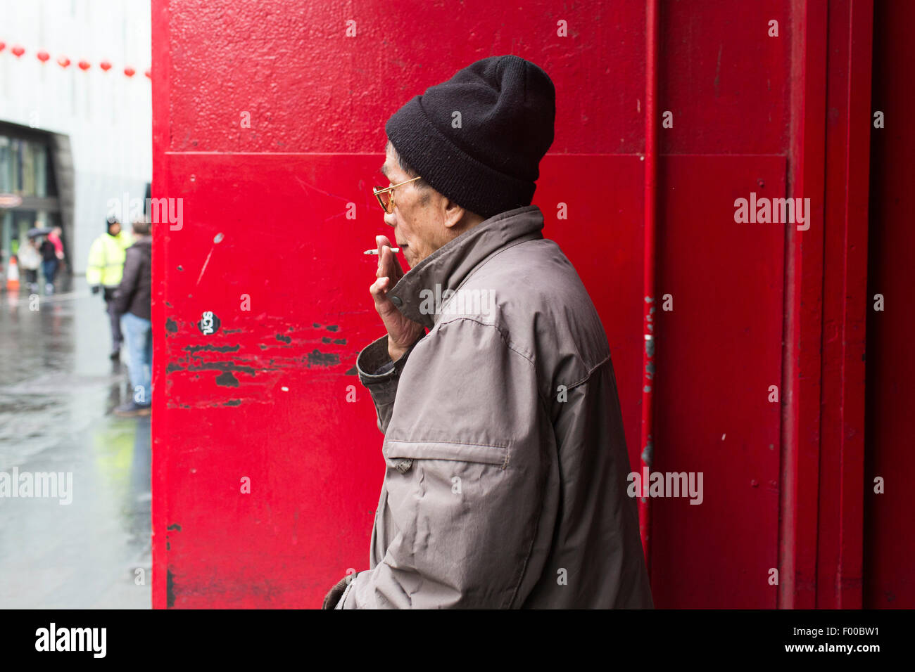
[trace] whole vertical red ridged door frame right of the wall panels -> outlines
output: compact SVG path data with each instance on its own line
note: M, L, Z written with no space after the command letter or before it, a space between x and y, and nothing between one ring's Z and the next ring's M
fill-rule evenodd
M793 4L780 608L860 608L872 0ZM828 113L827 113L828 111Z

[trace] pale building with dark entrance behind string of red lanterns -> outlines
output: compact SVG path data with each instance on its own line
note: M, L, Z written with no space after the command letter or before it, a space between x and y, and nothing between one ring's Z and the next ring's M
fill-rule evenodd
M152 179L148 0L0 0L0 243L61 225L85 272L109 200ZM132 74L128 74L132 73Z

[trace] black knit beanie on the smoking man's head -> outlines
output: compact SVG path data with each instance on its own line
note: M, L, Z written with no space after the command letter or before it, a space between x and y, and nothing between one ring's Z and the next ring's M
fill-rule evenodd
M384 130L426 183L489 219L531 205L555 116L556 91L543 69L491 56L415 96Z

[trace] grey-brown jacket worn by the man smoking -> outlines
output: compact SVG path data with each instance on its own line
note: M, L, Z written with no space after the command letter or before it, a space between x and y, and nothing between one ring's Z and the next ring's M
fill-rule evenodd
M337 609L653 607L607 336L543 228L502 212L390 291L429 331L357 361L387 469Z

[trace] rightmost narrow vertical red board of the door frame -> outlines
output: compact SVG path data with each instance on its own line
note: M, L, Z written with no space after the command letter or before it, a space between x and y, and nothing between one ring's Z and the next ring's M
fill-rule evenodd
M829 8L816 606L861 608L871 14Z

